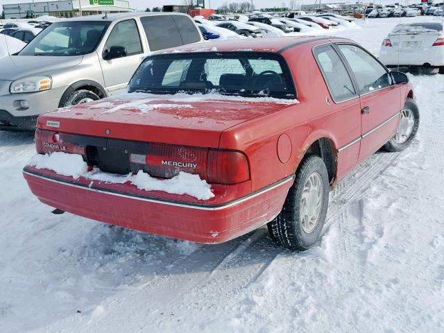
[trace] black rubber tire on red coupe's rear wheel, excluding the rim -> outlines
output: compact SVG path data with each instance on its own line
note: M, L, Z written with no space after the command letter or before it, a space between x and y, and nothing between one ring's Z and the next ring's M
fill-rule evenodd
M320 199L322 204L314 229L307 233L302 227L300 219L302 194L307 181L315 173L320 176L322 181L323 193ZM267 225L271 239L276 244L291 250L303 251L313 246L318 241L325 224L329 190L328 173L323 160L316 155L308 153L300 162L294 184L289 189L282 211Z

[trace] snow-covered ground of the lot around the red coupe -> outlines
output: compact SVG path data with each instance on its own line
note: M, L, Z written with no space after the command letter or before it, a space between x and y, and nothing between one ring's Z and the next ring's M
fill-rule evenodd
M377 54L398 22L338 35ZM305 253L53 215L22 177L33 135L0 132L0 332L444 332L444 76L410 78L418 137L339 183Z

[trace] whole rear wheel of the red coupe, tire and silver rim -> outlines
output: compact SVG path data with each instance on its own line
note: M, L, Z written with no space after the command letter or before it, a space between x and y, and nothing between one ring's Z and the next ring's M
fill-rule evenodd
M268 223L276 244L291 250L307 250L321 234L328 207L329 180L320 157L307 154L300 163L284 207Z

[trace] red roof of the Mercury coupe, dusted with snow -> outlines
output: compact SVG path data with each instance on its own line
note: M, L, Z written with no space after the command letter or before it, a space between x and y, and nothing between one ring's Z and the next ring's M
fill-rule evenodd
M345 38L327 37L327 36L304 36L304 37L273 37L273 38L243 38L239 40L223 40L220 42L207 42L205 44L189 44L169 49L162 53L171 52L230 52L230 51L252 51L252 52L271 52L280 53L284 49L297 47L298 45L309 42L334 42L343 40L350 42ZM352 41L351 41L352 42Z

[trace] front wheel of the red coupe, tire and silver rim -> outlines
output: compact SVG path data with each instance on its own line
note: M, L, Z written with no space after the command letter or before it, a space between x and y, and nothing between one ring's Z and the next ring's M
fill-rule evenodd
M418 132L419 127L419 109L413 99L407 99L404 108L401 111L401 120L398 130L389 142L384 144L384 151L395 152L403 151L407 148Z

